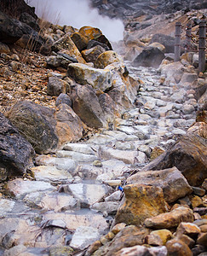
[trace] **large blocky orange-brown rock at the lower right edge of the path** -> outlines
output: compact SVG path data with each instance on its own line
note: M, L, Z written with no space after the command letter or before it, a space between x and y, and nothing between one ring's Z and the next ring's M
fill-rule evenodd
M158 187L130 184L124 187L124 195L115 217L116 224L139 225L146 218L168 211L163 190Z

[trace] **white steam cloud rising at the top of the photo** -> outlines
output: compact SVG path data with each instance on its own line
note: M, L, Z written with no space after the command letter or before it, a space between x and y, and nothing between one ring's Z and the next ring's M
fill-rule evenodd
M38 17L60 26L76 28L95 26L112 42L123 39L124 25L121 20L101 16L97 9L89 7L89 0L30 0Z

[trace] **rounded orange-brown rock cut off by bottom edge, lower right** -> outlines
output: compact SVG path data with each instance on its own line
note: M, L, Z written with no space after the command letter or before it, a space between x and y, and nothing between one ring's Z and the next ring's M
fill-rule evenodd
M172 239L165 246L168 249L168 256L193 256L187 244L179 239Z

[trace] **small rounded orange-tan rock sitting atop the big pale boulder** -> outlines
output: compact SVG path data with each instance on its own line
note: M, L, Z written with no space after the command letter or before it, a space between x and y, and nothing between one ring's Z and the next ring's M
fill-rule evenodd
M123 59L113 50L106 50L95 61L95 67L105 68L113 62L123 62Z

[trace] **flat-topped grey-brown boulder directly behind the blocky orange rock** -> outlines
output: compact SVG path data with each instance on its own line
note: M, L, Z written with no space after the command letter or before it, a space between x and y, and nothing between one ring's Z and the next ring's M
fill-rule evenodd
M158 186L163 189L164 199L168 203L189 195L193 191L176 167L160 171L137 172L127 179L127 183Z

